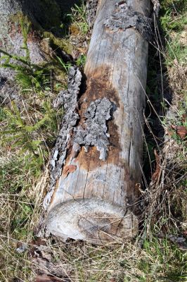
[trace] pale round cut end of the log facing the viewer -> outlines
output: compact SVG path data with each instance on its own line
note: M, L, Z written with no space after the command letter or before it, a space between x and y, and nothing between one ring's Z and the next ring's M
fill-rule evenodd
M103 245L136 235L138 220L127 208L110 202L78 199L53 207L47 217L46 230L63 240L72 238Z

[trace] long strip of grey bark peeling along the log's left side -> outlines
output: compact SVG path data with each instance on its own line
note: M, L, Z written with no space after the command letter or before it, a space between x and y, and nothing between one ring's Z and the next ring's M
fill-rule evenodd
M67 143L70 140L73 127L76 125L79 115L77 114L77 95L81 85L82 74L79 68L73 66L70 68L68 77L68 90L61 91L53 106L58 108L64 107L65 116L60 126L60 132L56 140L56 145L51 154L51 183L50 190L44 200L44 208L46 209L51 202L53 190L55 189L56 180L62 173L65 157L67 154Z

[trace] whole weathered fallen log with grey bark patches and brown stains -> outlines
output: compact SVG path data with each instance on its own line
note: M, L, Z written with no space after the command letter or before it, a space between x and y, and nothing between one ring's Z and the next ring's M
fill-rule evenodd
M65 240L100 244L136 234L149 16L149 0L98 1L86 91L67 109L77 121L62 144L65 151L53 152L53 166L60 164L62 173L44 202L46 230ZM67 108L70 92L77 97L78 91L72 92L74 80L69 85L61 93L69 97Z

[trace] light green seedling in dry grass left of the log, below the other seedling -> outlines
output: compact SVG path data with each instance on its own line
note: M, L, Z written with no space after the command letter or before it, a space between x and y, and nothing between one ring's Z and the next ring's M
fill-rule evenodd
M48 155L46 144L53 142L56 131L56 111L49 102L44 102L39 112L40 118L30 118L21 112L14 102L11 109L5 108L6 125L0 132L1 145L11 146L19 151L25 168L40 172Z

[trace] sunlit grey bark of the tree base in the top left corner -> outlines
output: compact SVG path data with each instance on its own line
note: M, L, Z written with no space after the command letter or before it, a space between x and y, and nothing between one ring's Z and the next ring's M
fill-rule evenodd
M8 54L25 56L25 50L22 49L23 37L20 28L20 20L26 20L22 14L22 6L18 0L0 0L0 49ZM28 23L28 20L27 20ZM44 61L44 52L41 51L41 40L33 30L30 32L28 40L28 49L30 50L30 59L32 63L41 63ZM0 57L4 54L0 51ZM1 61L0 63L3 63ZM15 63L11 59L11 63ZM16 62L18 63L18 62ZM0 67L0 102L6 104L12 99L18 101L20 87L15 82L15 71L11 68Z

